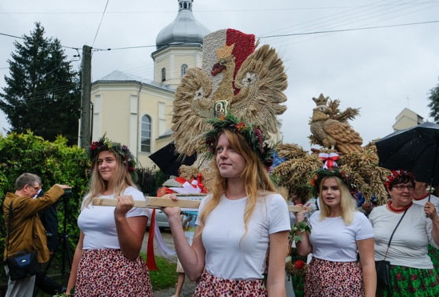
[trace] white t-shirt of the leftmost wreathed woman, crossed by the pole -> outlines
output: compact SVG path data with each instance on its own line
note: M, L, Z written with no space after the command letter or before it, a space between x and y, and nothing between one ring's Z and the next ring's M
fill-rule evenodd
M123 191L123 195L132 195L134 200L145 201L143 193L133 187L126 188L125 191ZM116 198L114 194L101 195L99 197ZM84 203L84 201L82 203ZM120 248L115 224L115 208L115 206L88 205L88 207L82 209L78 217L78 226L84 233L84 250ZM133 207L126 213L126 217L139 216L149 217L150 210L147 208Z

